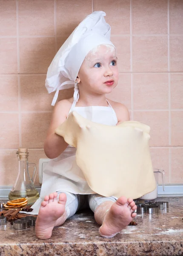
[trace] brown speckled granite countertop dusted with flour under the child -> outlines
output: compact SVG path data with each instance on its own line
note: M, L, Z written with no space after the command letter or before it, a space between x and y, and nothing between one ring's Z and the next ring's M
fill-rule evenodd
M99 225L89 210L78 212L53 230L48 240L35 236L34 227L0 230L0 255L27 256L169 256L183 255L183 197L157 198L169 209L141 214L112 239L100 237Z

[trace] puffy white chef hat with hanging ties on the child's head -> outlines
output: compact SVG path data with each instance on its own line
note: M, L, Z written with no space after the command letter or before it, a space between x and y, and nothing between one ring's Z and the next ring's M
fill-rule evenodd
M79 88L75 80L86 55L100 44L114 46L110 41L111 27L104 16L105 12L88 15L55 55L48 68L45 84L48 93L56 91L52 106L57 101L59 90L71 87L74 87L74 101L77 101Z

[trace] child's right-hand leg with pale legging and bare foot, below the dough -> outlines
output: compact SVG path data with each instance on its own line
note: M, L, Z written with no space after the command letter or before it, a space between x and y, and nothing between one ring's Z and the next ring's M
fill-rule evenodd
M101 225L99 232L103 237L113 237L126 227L136 216L137 209L134 201L129 198L103 197L101 195L89 195L89 206L94 212L94 218Z

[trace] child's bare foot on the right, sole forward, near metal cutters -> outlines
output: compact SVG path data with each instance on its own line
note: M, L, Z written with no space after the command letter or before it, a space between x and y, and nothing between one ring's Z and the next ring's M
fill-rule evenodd
M134 210L137 209L133 199L122 196L112 204L112 207L106 213L99 233L103 237L113 237L126 227L136 216Z

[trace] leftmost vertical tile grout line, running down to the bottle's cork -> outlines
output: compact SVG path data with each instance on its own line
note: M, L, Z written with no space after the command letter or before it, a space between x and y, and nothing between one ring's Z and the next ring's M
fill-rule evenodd
M18 22L18 0L16 0L17 11L17 78L18 78L18 125L19 125L19 147L22 147L22 128L21 128L21 93L20 93L20 41L19 41L19 22Z

